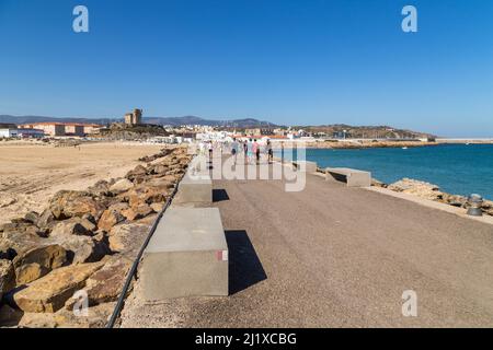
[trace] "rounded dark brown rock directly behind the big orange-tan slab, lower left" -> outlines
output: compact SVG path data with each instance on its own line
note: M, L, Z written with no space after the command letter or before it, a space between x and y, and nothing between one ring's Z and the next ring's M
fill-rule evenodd
M67 264L67 250L58 244L45 244L21 253L13 260L16 285L35 281Z

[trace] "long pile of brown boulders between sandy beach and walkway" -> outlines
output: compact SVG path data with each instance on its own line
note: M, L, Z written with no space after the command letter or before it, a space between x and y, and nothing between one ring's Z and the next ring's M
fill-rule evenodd
M124 178L62 190L0 226L0 326L102 327L150 225L191 156L165 150ZM76 317L83 290L89 317Z

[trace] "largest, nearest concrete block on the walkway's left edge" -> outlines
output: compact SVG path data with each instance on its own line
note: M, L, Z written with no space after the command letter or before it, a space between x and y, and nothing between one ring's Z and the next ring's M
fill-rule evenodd
M172 208L144 253L146 301L228 295L228 245L217 208Z

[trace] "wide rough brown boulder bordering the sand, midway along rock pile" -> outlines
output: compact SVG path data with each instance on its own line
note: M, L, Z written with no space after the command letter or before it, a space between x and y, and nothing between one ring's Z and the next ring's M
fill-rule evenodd
M50 200L49 209L57 220L88 213L98 220L106 208L89 191L61 190Z

